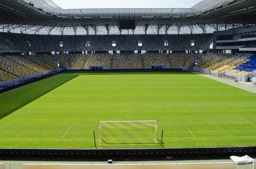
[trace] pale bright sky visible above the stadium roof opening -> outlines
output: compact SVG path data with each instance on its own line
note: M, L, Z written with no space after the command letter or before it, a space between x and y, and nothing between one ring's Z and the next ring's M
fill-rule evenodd
M202 0L53 0L63 9L81 8L191 8Z

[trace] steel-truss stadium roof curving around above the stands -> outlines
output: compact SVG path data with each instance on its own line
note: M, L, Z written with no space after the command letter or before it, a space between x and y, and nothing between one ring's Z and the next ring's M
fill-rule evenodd
M245 19L246 18L246 19ZM52 0L1 0L0 25L47 27L117 26L120 19L134 19L136 25L200 27L246 26L256 23L256 0L203 0L191 8L103 8L63 9ZM234 26L235 25L235 26ZM0 27L1 28L1 27ZM50 29L50 28L49 28ZM76 28L75 28L76 29Z

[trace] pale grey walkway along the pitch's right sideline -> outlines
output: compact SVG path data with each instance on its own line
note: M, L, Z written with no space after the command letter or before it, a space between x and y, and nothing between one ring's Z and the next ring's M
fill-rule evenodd
M212 76L210 74L204 74L204 73L201 73L201 72L196 72L196 71L191 71L191 72L195 73L195 74L199 74L203 77L207 77L207 78L210 78L210 79L228 84L228 85L233 86L233 87L243 89L243 90L248 91L248 92L256 93L256 87L254 87L252 85L248 85L248 84L245 84L245 83L242 83L242 82L235 82L233 80L229 80L229 79L226 79L226 78L215 77L215 76Z

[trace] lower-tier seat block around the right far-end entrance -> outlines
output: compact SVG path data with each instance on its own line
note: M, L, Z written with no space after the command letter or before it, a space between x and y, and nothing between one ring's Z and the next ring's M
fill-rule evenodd
M165 66L170 66L164 53L146 53L143 55L143 59L145 67L149 67L151 64L165 64Z

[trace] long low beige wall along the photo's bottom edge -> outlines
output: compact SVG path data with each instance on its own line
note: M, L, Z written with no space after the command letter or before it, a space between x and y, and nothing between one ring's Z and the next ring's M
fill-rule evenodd
M23 169L234 169L233 162L177 164L23 164ZM254 167L256 169L256 165Z

